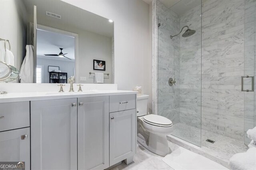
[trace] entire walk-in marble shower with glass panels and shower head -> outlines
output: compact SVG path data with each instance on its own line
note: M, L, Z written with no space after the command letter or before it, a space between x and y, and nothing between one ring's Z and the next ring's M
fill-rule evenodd
M162 2L156 0L156 112L174 125L169 140L227 164L247 149L246 131L256 126L256 0Z

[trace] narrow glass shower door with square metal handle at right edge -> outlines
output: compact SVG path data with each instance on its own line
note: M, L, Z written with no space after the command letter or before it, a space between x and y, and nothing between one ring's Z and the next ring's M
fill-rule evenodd
M244 92L244 144L250 139L246 131L256 126L256 0L245 0L245 44L244 44L244 77L242 90ZM253 79L254 78L254 79Z

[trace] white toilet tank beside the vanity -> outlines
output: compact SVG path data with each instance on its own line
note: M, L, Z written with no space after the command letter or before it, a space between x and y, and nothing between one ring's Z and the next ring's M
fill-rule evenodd
M141 95L137 97L137 117L147 115L149 95Z

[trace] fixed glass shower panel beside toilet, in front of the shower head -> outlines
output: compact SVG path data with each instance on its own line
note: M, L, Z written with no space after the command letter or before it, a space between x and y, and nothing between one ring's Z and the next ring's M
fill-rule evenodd
M184 4L190 8L177 10ZM158 115L172 121L173 136L197 146L201 146L201 8L201 0L181 0L158 15ZM169 84L171 78L175 84Z

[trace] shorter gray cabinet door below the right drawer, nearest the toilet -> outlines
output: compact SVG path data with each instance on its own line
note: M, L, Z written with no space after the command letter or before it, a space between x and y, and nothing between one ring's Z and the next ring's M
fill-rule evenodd
M110 113L110 166L135 154L135 109Z

